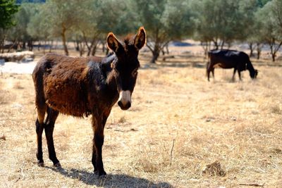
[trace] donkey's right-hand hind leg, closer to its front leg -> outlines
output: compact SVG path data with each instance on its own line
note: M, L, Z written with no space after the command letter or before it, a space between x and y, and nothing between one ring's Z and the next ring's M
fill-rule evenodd
M54 166L61 166L58 158L56 157L55 147L54 147L54 140L53 140L53 131L54 131L54 125L56 122L56 118L58 118L59 112L55 111L52 108L48 108L47 111L47 118L45 121L45 135L47 139L47 145L48 145L48 153L49 158L53 162Z

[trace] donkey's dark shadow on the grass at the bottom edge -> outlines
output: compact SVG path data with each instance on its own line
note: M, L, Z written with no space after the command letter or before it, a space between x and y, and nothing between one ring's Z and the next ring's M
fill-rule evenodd
M99 177L92 172L85 170L77 170L71 168L70 170L64 168L45 167L54 170L61 175L71 177L75 180L88 185L95 185L97 187L173 187L168 182L154 183L140 177L133 177L125 174L109 174L104 177Z

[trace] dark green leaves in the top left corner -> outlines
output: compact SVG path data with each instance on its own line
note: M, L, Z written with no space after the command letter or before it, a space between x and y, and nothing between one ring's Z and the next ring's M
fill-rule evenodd
M13 14L18 11L14 0L0 0L0 28L8 29L15 25Z

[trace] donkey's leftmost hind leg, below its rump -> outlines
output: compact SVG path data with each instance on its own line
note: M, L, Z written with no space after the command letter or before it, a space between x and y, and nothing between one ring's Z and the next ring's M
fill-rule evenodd
M37 164L44 166L43 152L42 152L42 132L44 130L44 116L47 111L47 105L44 99L40 99L36 96L35 104L37 106L37 120L35 121L36 134L37 134Z

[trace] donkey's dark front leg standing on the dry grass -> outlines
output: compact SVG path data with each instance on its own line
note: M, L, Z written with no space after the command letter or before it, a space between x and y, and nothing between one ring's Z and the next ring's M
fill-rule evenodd
M104 144L104 126L102 122L102 115L92 115L92 128L94 131L92 164L94 173L98 173L98 175L106 175L102 161L102 146Z

